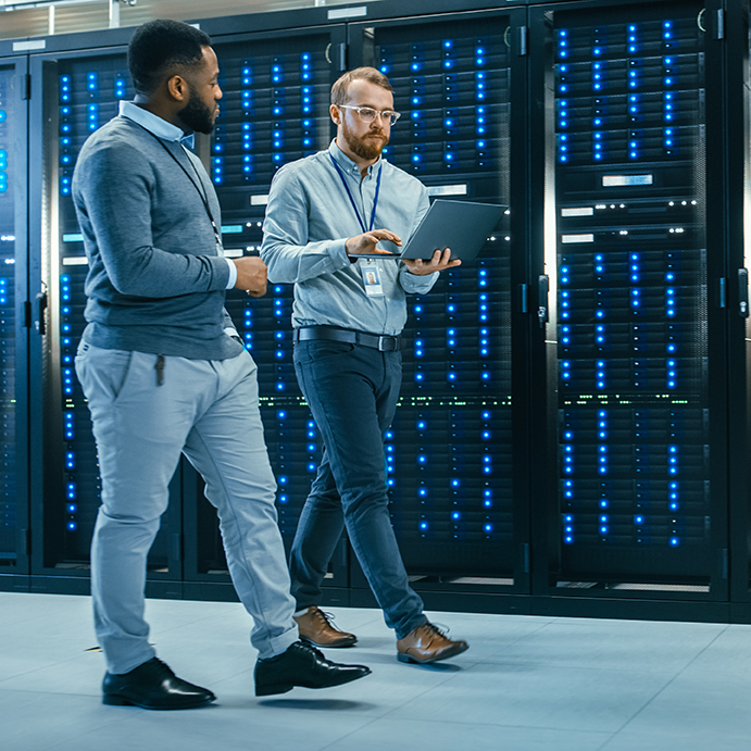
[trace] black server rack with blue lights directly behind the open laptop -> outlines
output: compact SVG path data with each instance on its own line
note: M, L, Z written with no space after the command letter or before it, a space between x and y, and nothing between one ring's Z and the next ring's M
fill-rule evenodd
M412 585L429 602L436 592L524 592L525 185L512 146L525 129L524 13L395 15L349 30L350 67L385 73L402 112L386 157L434 197L510 209L475 263L408 301L402 395L386 443L391 518ZM355 571L353 586L365 588Z

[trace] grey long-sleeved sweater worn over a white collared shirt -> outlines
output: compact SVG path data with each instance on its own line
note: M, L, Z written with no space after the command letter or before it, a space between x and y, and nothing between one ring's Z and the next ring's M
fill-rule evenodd
M162 146L163 145L163 146ZM201 162L117 116L84 145L73 200L89 261L84 340L191 360L225 360L242 346L224 333L227 262L196 187L221 227Z

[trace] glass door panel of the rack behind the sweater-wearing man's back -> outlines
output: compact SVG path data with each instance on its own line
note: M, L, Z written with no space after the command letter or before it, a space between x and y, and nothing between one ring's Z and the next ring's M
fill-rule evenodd
M86 326L84 284L88 273L71 198L78 152L97 128L133 99L124 53L60 60L46 65L46 277L50 325L46 339L45 565L60 573L87 572L101 485L91 420L75 375L74 358ZM47 222L45 226L48 226ZM171 509L179 517L179 508ZM171 512L167 512L168 518ZM168 569L170 524L149 554L151 575Z

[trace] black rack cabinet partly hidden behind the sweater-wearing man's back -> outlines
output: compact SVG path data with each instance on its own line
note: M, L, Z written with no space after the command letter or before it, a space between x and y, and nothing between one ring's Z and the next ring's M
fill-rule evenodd
M132 99L125 50L38 55L32 60L33 170L41 176L32 199L33 245L41 301L32 342L35 395L33 422L41 429L34 446L43 472L35 473L34 588L88 587L89 546L100 504L99 467L88 406L74 358L84 320L88 272L83 237L71 197L76 158L86 138ZM38 281L36 284L39 284ZM34 287L34 285L33 285ZM180 597L182 527L179 475L171 485L170 509L149 554L149 591ZM64 578L64 581L60 579Z

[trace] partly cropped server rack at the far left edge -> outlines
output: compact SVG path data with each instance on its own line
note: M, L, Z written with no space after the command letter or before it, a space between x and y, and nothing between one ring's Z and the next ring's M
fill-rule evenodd
M28 566L26 67L0 60L0 575L26 589Z

